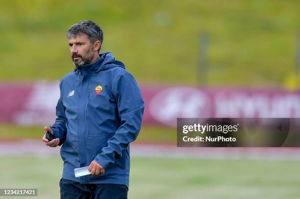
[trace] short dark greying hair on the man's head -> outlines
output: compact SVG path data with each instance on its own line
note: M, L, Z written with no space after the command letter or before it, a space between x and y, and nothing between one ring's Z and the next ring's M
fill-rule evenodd
M91 20L84 20L75 23L67 31L66 37L67 39L70 39L82 33L86 34L89 37L91 44L94 44L94 42L96 41L100 41L100 48L101 48L103 43L103 32L99 25L97 25L95 22ZM100 48L98 49L98 52L100 51Z

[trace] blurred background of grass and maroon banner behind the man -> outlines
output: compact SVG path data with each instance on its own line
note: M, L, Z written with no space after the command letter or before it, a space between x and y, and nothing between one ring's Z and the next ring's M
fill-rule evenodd
M66 31L89 19L145 100L128 198L299 199L298 148L176 147L177 117L300 117L299 10L296 0L1 1L0 188L59 197L63 161L41 137L74 69Z

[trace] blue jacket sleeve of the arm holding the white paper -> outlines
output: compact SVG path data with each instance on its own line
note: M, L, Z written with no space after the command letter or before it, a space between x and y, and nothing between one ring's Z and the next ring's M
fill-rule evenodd
M136 139L141 129L145 107L140 88L130 73L121 74L114 81L112 94L117 100L121 126L94 159L103 168L114 163L116 156L122 156L122 150Z

